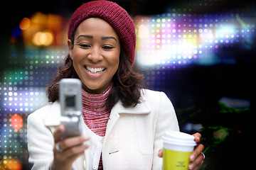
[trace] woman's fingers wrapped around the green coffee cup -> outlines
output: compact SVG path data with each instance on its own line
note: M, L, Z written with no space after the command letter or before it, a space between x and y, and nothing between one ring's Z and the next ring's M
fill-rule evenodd
M193 136L195 137L195 141L196 142L200 142L201 140L201 134L200 133L195 133L193 134ZM194 151L192 152L192 154L189 156L189 159L191 160L191 163L188 164L188 169L193 169L193 170L198 170L201 168L202 164L203 164L203 154L201 154L201 152L203 152L204 146L202 144L199 144L196 149L194 149ZM160 149L159 150L159 157L163 157L163 150Z

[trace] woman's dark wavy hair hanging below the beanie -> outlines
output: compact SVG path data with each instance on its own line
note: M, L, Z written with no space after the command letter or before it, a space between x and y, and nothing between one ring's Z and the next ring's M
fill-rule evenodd
M53 81L47 87L48 101L55 102L59 98L59 82L63 78L79 79L73 67L70 55L65 57L64 68L58 67L58 72ZM107 98L107 110L110 111L120 100L124 107L136 106L140 103L141 90L144 88L143 74L139 74L132 68L128 57L121 47L119 55L119 67L112 78L113 87Z

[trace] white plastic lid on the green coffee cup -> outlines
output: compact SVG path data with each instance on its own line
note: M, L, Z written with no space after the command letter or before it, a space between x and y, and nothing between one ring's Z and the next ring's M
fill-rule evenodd
M184 132L169 131L165 132L162 140L171 145L196 146L195 137Z

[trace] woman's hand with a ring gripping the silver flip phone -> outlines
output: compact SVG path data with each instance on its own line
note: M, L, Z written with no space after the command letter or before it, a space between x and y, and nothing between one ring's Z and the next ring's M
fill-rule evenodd
M80 155L85 153L85 149L89 147L88 144L84 142L89 140L90 137L83 137L82 135L77 137L70 137L65 140L62 140L62 134L65 130L64 125L58 126L58 128L53 133L55 145L53 147L53 164L52 169L62 169L62 170L70 170L72 169L72 164L80 157ZM56 149L56 144L58 143L58 147L63 151L60 152Z

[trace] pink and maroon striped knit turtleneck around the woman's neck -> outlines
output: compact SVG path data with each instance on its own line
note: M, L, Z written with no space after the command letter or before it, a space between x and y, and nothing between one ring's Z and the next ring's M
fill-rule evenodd
M101 137L105 136L110 111L106 101L112 84L102 94L89 94L82 89L82 118L90 130Z

